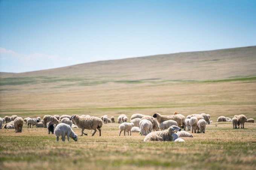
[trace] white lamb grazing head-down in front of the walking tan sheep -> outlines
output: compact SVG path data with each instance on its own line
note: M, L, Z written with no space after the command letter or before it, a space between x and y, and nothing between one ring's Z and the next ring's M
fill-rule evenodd
M72 128L69 125L64 124L64 123L60 123L56 126L56 128L54 130L54 134L56 136L57 142L59 141L59 136L61 136L61 140L63 142L65 141L66 136L67 136L68 142L69 142L69 137L71 137L75 141L78 140L78 136L75 134L75 132L72 130Z

